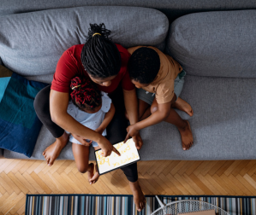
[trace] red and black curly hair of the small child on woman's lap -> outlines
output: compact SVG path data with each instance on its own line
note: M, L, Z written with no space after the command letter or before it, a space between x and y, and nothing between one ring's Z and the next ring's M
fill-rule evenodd
M80 109L97 108L101 104L101 91L89 78L75 77L71 80L71 99Z

